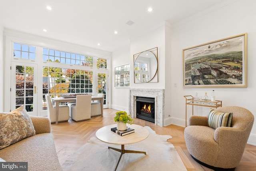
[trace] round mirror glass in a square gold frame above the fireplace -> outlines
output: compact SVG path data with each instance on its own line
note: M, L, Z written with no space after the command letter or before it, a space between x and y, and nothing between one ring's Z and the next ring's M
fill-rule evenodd
M157 72L157 58L150 51L138 55L134 62L134 77L142 83L150 82Z

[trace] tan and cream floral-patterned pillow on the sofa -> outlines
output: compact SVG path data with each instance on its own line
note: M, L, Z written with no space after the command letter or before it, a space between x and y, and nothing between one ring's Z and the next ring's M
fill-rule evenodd
M0 113L0 149L26 137L36 135L33 123L24 105L10 113Z

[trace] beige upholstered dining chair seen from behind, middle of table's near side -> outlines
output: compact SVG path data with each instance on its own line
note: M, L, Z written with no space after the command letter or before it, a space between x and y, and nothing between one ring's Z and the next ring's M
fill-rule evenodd
M76 104L71 106L71 119L85 121L91 118L92 95L77 95Z

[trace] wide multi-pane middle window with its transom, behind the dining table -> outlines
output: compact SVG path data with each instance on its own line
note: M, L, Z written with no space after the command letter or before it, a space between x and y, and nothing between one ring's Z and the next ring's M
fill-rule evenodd
M43 48L43 61L93 66L93 57ZM46 94L60 97L65 93L92 93L93 72L74 68L43 67L43 100ZM46 107L43 105L43 110Z

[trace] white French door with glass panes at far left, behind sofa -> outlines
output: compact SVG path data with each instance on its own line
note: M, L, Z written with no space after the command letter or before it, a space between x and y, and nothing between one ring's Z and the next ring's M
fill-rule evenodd
M37 65L11 62L11 110L25 105L29 115L38 113Z

